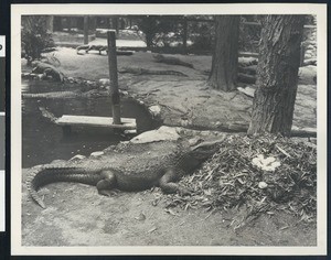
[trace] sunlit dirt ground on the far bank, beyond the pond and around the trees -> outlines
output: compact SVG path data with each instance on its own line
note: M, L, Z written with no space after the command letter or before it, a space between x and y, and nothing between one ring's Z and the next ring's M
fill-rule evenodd
M186 75L132 75L118 74L119 87L148 106L159 106L160 116L167 126L183 126L196 129L245 131L250 120L253 98L241 91L223 93L206 86L206 71L211 56L173 55L194 65L189 68L156 63L151 53L136 52L131 56L118 56L118 69L125 67L177 71ZM90 52L77 55L74 48L61 47L56 52L60 69L67 77L89 80L108 78L108 58L105 54ZM23 71L25 67L23 66ZM316 66L301 67L295 107L293 127L316 128L317 86L313 83ZM247 84L239 84L245 88ZM249 85L255 88L254 85Z

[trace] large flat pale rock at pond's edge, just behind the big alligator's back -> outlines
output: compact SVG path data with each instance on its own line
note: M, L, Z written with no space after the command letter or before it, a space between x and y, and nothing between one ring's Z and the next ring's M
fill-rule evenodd
M143 132L130 140L131 143L149 143L158 141L177 141L180 138L175 128L160 127L157 130Z

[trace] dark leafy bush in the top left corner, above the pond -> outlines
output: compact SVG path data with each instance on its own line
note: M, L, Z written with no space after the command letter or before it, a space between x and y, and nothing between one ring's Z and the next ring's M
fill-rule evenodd
M40 58L44 48L54 46L46 22L44 15L22 17L22 52L30 63Z

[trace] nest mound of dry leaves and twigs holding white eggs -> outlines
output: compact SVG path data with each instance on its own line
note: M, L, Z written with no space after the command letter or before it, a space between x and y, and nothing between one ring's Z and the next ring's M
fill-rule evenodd
M167 207L246 208L245 221L285 210L300 220L316 221L317 148L281 137L232 136L180 184L192 196L168 195Z

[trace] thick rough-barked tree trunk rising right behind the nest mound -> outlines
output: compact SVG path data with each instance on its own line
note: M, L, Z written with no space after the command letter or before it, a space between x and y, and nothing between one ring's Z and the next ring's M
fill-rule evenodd
M248 134L290 134L303 21L303 15L267 15L263 22Z

